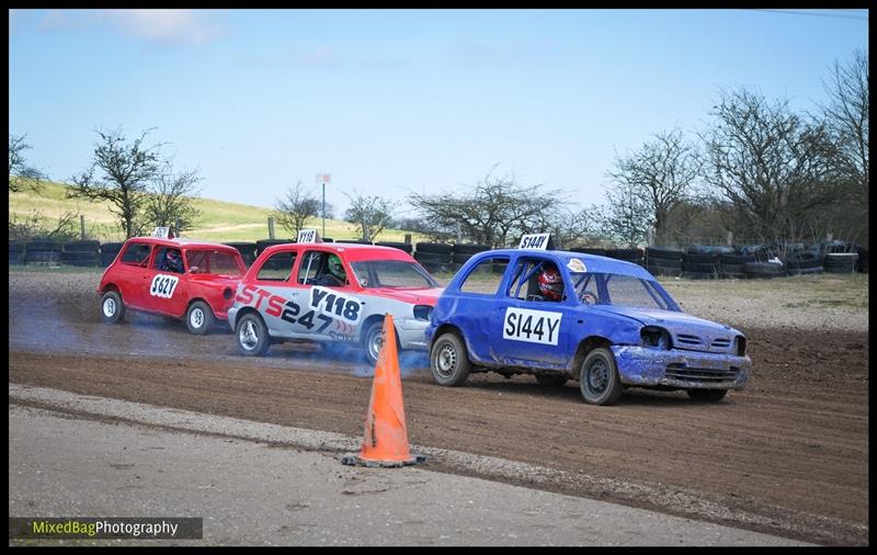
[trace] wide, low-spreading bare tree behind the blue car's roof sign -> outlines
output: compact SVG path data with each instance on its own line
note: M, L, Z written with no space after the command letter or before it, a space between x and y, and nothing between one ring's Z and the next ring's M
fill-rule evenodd
M514 174L493 177L494 169L469 194L414 194L412 204L434 228L459 229L467 239L491 247L505 247L523 234L543 231L548 216L565 202L560 192L543 184L520 184Z

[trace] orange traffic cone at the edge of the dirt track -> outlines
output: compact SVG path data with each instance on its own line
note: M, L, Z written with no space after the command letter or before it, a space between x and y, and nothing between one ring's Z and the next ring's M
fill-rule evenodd
M412 455L408 450L408 430L405 426L402 381L399 376L399 354L392 315L384 318L384 344L375 364L372 398L365 415L365 437L358 455L346 455L343 464L364 466L406 466L422 463L423 455Z

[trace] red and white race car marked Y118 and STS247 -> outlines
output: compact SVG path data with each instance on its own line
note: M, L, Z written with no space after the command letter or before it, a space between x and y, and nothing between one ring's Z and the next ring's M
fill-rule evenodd
M263 355L272 341L304 339L362 347L374 364L387 313L400 349L426 349L424 330L442 288L410 254L300 238L265 249L239 283L228 324L242 354Z

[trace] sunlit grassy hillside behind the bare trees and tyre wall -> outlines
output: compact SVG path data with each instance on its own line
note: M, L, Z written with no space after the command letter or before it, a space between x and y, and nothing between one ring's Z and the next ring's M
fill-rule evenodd
M66 199L66 185L61 183L44 182L38 193L26 191L9 193L9 215L23 218L32 211L38 211L41 223L54 227L54 223L65 212L82 214L86 216L86 233L92 239L100 241L118 241L125 238L117 225L117 218L110 212L107 202L96 203L83 199ZM237 204L212 199L195 200L195 207L201 211L201 217L194 229L186 231L186 237L210 241L255 241L267 239L267 217L272 208ZM322 234L322 218L308 222ZM77 229L79 223L77 222ZM410 231L403 229L385 229L378 241L402 241ZM274 234L280 239L292 237L292 234L280 225L274 225ZM333 239L355 239L353 226L340 219L326 220L326 237ZM412 234L412 241L425 240Z

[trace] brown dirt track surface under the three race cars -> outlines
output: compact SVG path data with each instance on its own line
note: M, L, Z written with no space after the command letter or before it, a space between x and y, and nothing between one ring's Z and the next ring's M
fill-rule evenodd
M18 286L16 286L18 285ZM362 434L369 369L355 354L283 344L237 354L224 329L193 337L173 320L132 315L99 322L91 291L10 284L9 381L261 422ZM734 324L734 322L730 322ZM477 453L613 483L695 491L762 518L697 518L832 545L868 543L868 336L743 327L753 375L719 404L631 389L614 407L584 405L578 384L528 376L470 377L443 388L425 356L407 355L403 388L413 443ZM472 474L431 463L441 472ZM489 473L479 474L491 477ZM509 479L503 478L503 479ZM511 479L520 485L536 480ZM540 487L691 517L582 483Z

